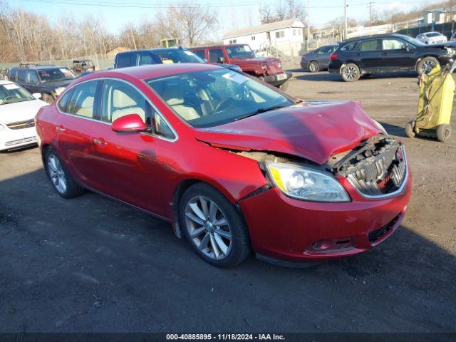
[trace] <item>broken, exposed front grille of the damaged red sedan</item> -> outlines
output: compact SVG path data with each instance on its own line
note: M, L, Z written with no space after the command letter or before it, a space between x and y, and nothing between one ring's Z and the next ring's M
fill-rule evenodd
M375 197L400 188L406 163L404 147L398 140L375 137L343 157L338 170L362 195Z

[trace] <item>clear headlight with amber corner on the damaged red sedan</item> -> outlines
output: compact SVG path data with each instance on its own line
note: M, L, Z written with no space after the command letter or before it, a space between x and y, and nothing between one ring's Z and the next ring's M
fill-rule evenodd
M332 175L297 165L271 162L269 175L289 197L313 202L348 202L347 192Z

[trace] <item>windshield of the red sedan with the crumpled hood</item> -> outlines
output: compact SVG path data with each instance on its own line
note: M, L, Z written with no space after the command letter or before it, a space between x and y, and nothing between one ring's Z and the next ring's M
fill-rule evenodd
M225 68L152 78L147 83L183 120L199 128L294 104L259 81Z

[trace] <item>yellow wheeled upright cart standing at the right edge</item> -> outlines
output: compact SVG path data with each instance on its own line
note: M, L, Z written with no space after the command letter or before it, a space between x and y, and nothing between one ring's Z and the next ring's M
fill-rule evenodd
M416 119L405 126L405 134L409 138L415 135L437 138L445 142L451 135L451 110L456 84L452 72L456 61L451 67L440 69L440 66L420 76L420 99Z

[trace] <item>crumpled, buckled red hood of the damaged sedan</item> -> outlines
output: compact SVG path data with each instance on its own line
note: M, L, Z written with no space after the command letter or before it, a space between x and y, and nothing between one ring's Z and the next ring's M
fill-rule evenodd
M199 128L195 137L214 147L282 152L323 165L331 155L351 150L378 133L360 103L309 102Z

